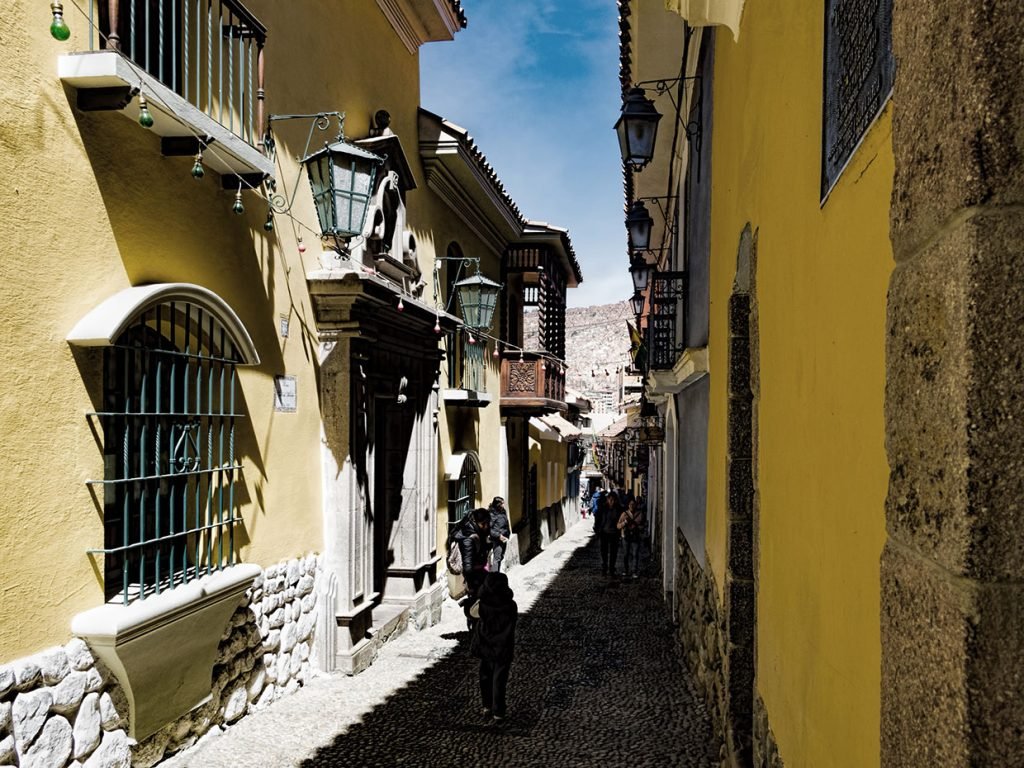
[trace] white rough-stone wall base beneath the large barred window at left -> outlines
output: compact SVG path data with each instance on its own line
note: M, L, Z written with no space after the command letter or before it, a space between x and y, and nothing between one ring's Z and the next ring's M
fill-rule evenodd
M147 768L298 690L314 674L322 572L315 555L264 570L224 628L210 700L135 745L127 698L83 640L0 667L0 768Z

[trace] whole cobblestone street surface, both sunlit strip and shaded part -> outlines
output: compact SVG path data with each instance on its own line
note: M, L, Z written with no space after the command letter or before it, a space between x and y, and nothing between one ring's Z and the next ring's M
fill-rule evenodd
M508 719L481 714L462 611L323 676L165 766L703 768L718 745L652 577L600 574L585 520L513 568L520 620Z

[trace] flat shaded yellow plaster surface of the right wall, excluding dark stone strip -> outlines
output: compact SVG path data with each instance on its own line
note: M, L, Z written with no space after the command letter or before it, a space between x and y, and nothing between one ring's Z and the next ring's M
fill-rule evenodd
M748 3L714 76L708 552L724 584L728 297L758 231L757 685L787 768L879 764L889 112L819 206L820 0Z

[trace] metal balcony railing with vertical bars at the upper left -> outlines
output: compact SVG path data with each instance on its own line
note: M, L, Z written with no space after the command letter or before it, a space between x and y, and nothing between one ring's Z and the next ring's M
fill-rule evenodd
M263 140L266 28L237 0L89 0L89 50L119 50L231 133Z

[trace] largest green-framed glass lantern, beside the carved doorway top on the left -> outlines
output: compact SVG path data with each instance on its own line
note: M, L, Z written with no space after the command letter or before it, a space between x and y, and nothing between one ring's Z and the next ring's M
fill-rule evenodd
M362 233L374 180L384 158L344 140L327 144L302 161L309 173L324 237Z

